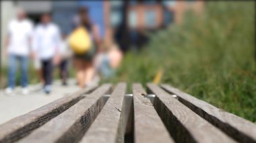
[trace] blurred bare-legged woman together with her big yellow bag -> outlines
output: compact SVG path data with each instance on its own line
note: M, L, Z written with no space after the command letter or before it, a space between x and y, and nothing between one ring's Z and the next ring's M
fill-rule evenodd
M79 9L79 26L69 36L69 46L74 53L79 87L89 86L95 73L93 58L99 42L98 28L90 21L88 9Z

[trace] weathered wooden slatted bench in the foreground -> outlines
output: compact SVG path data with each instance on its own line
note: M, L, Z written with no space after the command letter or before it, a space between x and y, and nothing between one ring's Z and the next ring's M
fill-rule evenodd
M256 142L256 125L170 85L88 87L0 125L0 142Z

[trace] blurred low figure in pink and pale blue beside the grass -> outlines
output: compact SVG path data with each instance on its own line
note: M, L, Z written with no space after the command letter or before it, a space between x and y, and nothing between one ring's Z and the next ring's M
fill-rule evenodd
M98 73L102 75L103 79L112 77L123 59L123 52L110 39L111 36L106 37L102 51L97 54L94 60L94 66L96 66Z

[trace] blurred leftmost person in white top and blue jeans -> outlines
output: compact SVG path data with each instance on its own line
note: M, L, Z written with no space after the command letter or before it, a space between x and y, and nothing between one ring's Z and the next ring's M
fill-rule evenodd
M18 9L15 19L8 24L5 51L8 58L8 87L5 93L10 94L15 87L16 62L21 68L22 93L28 94L28 58L32 38L33 24L26 17L23 9Z

